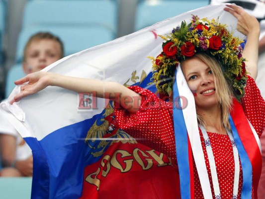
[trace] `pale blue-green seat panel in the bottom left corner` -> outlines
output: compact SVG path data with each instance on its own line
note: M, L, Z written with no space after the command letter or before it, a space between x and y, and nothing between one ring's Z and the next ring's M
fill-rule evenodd
M1 199L30 199L32 178L0 178Z

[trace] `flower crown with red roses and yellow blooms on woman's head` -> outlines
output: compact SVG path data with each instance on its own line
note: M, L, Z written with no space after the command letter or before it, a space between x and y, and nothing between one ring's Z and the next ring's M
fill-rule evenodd
M234 37L226 24L220 24L219 18L211 21L192 15L191 23L181 22L172 33L161 36L163 51L153 63L152 81L162 95L168 95L172 89L172 79L179 62L192 57L195 53L213 56L220 64L225 79L232 85L235 97L240 100L245 94L247 81L245 58L242 57L243 40Z

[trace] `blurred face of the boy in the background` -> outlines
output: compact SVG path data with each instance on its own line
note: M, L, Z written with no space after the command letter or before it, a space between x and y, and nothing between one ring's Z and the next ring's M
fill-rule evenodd
M51 39L34 40L26 49L23 70L25 74L40 71L61 57L62 50L57 41Z

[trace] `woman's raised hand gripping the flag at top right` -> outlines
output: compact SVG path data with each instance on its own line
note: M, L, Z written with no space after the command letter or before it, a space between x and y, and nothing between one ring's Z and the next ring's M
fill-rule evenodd
M225 11L230 12L238 19L237 30L244 35L260 34L260 23L255 16L248 14L242 7L230 4L226 5Z

